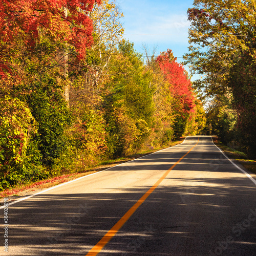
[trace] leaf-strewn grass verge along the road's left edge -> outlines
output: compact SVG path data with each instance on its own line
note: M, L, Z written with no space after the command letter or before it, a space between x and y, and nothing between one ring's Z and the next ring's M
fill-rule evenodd
M105 160L105 161L102 161L102 162L96 164L95 166L84 168L81 172L78 172L78 173L63 174L61 176L56 176L56 177L53 177L53 178L50 178L47 180L41 180L41 181L37 181L37 182L30 182L30 183L26 183L26 184L22 184L22 185L16 185L12 188L5 189L5 190L1 191L0 199L5 198L5 197L16 199L18 197L30 195L30 194L33 194L35 190L46 189L46 188L61 184L63 182L67 182L70 180L80 178L82 176L100 172L101 170L113 167L115 165L125 163L127 161L131 161L131 160L134 160L136 158L139 158L139 157L142 157L142 156L145 156L148 154L152 154L156 151L162 150L163 148L178 145L183 140L184 140L184 137L180 138L177 141L171 142L169 145L166 145L164 147L152 148L152 149L148 149L146 151L143 151L143 150L138 151L136 154L133 154L133 155L127 156L127 157L121 157L118 159Z

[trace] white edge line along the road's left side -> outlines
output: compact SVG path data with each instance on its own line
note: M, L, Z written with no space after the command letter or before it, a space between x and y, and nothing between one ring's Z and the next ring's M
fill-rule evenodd
M187 138L187 137L186 137L186 138ZM175 145L175 146L178 146L178 145L182 144L182 143L186 140L186 138L185 138L181 143L179 143L179 144L177 144L177 145ZM174 146L170 146L170 147L163 148L163 150L166 150L167 148L171 148L171 147L174 147ZM151 154L148 154L148 155L145 155L145 156L142 156L142 157L139 157L139 158L133 159L133 160L131 160L131 161L127 161L127 162L125 162L125 163L117 164L117 165L112 166L112 167L110 167L110 168L107 168L107 169L101 170L100 172L97 172L97 173L93 173L93 174L85 175L85 176L79 177L79 178L77 178L77 179L70 180L70 181L68 181L68 182L64 182L64 183L61 183L61 184L56 185L56 186L52 186L52 187L50 187L50 188L48 188L48 189L41 190L41 191L39 191L38 193L35 193L35 194L30 195L30 196L28 196L28 197L20 198L20 199L15 200L15 201L13 201L13 202L11 202L11 203L8 203L8 206L10 206L10 205L12 205L12 204L16 204L16 203L21 202L21 201L24 201L24 200L27 200L27 199L29 199L29 198L31 198L31 197L36 196L36 195L39 195L39 194L45 193L46 191L52 190L52 189L54 189L54 188L56 188L56 187L60 187L60 186L63 186L63 185L69 184L69 183L71 183L71 182L74 182L74 181L77 181L77 180L80 180L80 179L83 179L83 178L89 177L89 176L91 176L91 175L99 174L99 173L101 173L101 172L104 172L105 170L109 170L109 169L114 168L114 167L116 167L116 166L119 166L119 165L122 165L122 164L126 164L126 163L129 163L129 162L132 162L132 161L138 160L138 159L140 159L140 158L143 158L143 157L146 157L146 156L149 156L149 155L152 155L152 154L158 153L158 152L163 151L163 150L159 150L159 151L153 152L153 153L151 153ZM3 209L3 208L5 208L5 205L0 206L0 209Z

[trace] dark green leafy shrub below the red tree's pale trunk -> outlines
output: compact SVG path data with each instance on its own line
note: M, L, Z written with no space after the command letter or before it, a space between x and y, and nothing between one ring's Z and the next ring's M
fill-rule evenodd
M73 121L60 91L54 90L56 83L48 77L41 79L28 99L31 113L38 123L38 133L34 139L42 155L42 164L47 167L52 167L54 159L68 147L65 131Z

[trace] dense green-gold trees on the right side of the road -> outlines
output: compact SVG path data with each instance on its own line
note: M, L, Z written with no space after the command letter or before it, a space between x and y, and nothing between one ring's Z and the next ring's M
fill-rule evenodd
M256 157L255 9L254 0L195 0L194 8L188 9L190 53L185 56L191 71L203 75L195 87L213 99L207 114L208 125L216 127L212 132L252 157Z

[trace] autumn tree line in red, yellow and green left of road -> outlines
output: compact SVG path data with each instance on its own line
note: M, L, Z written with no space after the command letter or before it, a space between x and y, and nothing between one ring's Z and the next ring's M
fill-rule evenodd
M203 131L167 49L146 58L108 0L0 3L0 190L80 172Z

